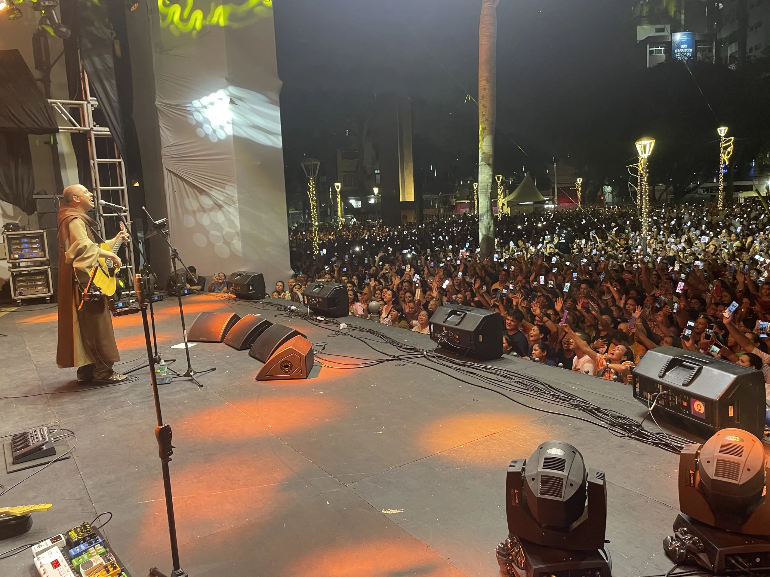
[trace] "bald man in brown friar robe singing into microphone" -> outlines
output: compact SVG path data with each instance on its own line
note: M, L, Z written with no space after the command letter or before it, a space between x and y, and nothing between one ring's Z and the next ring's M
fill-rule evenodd
M93 230L98 225L86 214L94 208L93 194L85 186L64 189L64 204L59 208L59 345L56 365L59 369L78 367L78 382L98 385L121 382L126 375L112 370L120 355L112 332L112 317L107 297L89 300L78 310L82 292L97 258L112 258L122 265L113 252L99 247ZM119 232L108 241L114 246L128 235Z

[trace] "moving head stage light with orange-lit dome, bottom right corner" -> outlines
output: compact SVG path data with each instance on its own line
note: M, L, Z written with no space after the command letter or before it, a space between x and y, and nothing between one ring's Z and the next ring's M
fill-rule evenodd
M663 540L672 561L708 571L770 569L768 461L762 442L722 429L679 457L679 509L674 535Z

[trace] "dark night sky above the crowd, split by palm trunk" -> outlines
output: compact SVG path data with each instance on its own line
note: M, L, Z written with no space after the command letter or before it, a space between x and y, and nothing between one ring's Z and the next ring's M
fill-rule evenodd
M579 103L623 82L637 51L628 0L501 0L497 8L498 151L511 165L567 155L568 117ZM284 92L393 89L442 110L477 114L480 2L469 0L283 0L275 3ZM617 105L617 103L616 103ZM296 105L295 105L296 106ZM472 107L472 114L468 108ZM559 115L554 115L554 111ZM300 114L283 108L285 122ZM475 122L466 127L475 147ZM420 118L415 118L415 131ZM515 152L516 141L529 160ZM517 155L521 158L514 158ZM502 162L502 161L501 161ZM532 167L534 168L534 167Z

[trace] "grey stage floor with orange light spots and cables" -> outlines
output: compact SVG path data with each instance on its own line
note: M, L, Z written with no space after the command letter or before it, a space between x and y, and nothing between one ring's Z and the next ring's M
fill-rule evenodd
M191 295L184 305L188 327L204 311L271 321L277 314L221 295ZM139 365L146 360L141 315L113 320L121 368ZM327 343L326 352L377 356L350 337L278 320L304 332L316 349ZM351 328L372 325L341 320ZM176 299L156 306L156 322L162 354L184 369L184 351L171 348L182 342ZM393 339L433 348L427 335L378 326ZM74 459L0 498L2 506L54 505L34 515L31 532L0 542L0 552L109 511L114 517L103 531L132 575L146 575L152 565L169 573L148 369L136 382L82 390L75 369L56 368L56 310L45 305L2 315L0 333L7 335L0 337L0 435L52 422L77 435ZM661 542L678 512L677 455L415 365L343 370L316 361L310 379L256 382L260 364L247 351L205 343L190 352L195 369L216 367L200 377L203 388L181 379L160 387L174 433L174 507L189 575L498 575L507 465L550 439L572 443L587 466L606 472L613 575L671 569ZM641 419L646 412L628 385L521 359L497 362L625 415ZM37 396L8 399L21 395ZM3 470L0 483L8 487L28 473ZM37 575L32 555L0 560L0 575Z

